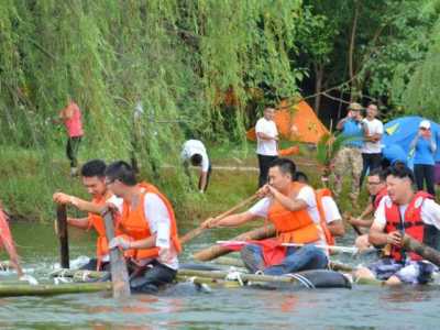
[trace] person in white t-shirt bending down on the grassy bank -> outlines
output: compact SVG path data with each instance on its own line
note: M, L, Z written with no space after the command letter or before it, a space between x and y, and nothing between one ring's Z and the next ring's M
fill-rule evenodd
M188 164L200 166L198 188L200 193L205 193L208 189L212 166L209 162L208 153L204 143L199 140L186 141L182 148L180 157L184 161L185 170L189 177Z

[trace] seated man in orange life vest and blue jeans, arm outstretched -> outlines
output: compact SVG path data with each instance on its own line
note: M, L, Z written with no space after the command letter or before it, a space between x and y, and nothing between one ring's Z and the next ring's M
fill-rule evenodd
M248 270L253 273L282 275L327 267L328 257L324 251L314 245L324 244L318 229L319 213L315 191L309 186L294 182L295 169L295 163L290 160L275 160L268 169L268 184L258 190L263 197L258 202L242 213L220 220L208 219L202 223L204 228L235 227L265 218L277 231L275 241L272 240L276 245L296 245L285 248L278 262L274 263L266 258L264 246L246 244L241 250L241 256Z

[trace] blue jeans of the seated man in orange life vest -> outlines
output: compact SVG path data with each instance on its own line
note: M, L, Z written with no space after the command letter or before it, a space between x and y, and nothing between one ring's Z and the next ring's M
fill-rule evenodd
M324 270L328 265L328 258L323 250L312 244L302 248L287 248L283 262L270 267L265 267L264 265L263 249L260 245L245 245L241 250L241 257L250 272L263 271L264 275L283 275L307 270Z

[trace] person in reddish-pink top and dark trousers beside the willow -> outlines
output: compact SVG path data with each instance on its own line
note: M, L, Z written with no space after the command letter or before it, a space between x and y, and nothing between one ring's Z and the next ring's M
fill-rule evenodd
M78 175L78 148L84 135L81 110L70 98L68 106L59 111L58 118L64 122L67 131L66 155L70 161L70 175Z

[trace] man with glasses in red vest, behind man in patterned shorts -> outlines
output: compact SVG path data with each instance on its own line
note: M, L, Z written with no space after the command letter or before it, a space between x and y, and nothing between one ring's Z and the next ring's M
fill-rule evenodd
M349 221L353 226L370 229L370 227L373 224L373 219L365 219L365 217L374 213L382 198L387 195L385 173L380 168L375 168L370 172L369 176L366 177L366 187L370 194L369 205L359 218L350 217ZM358 237L354 244L360 251L364 251L371 248L371 244L369 242L369 234L362 234Z

